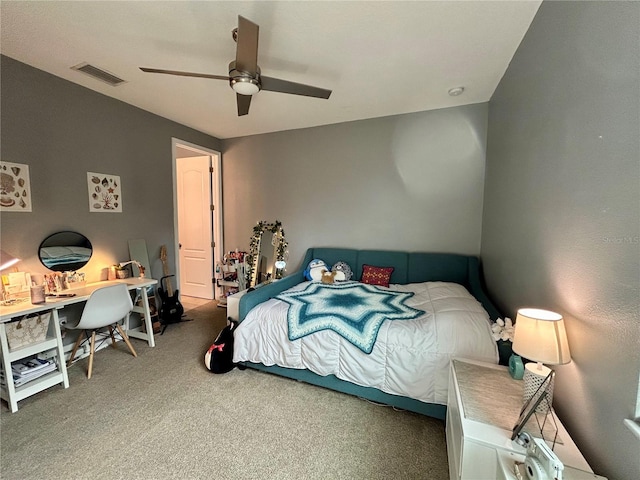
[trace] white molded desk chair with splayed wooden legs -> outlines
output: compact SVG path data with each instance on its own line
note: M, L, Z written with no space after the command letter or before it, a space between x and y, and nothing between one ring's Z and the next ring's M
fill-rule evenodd
M67 329L84 330L86 338L84 341L91 341L91 353L89 354L89 370L87 372L87 378L91 378L91 371L93 370L93 354L96 348L96 331L102 328L109 327L109 335L111 336L111 346L116 348L116 341L113 336L113 327L115 326L120 333L120 336L131 350L134 357L138 354L133 349L133 345L129 341L129 337L120 326L120 320L123 320L129 315L133 303L131 302L131 296L127 290L127 286L124 283L116 285L109 285L95 290L87 300L82 311L80 321L76 325L65 325ZM91 332L91 337L89 337ZM106 335L106 333L105 333ZM71 357L67 363L67 367L70 367L73 363L73 359L76 356L78 347L83 341L82 332L78 335L78 340L73 346Z

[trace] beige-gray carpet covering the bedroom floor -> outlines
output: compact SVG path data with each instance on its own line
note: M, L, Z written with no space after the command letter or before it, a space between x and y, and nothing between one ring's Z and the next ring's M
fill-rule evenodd
M226 311L187 312L156 347L133 340L61 386L2 402L0 477L446 479L444 422L254 370L211 374Z

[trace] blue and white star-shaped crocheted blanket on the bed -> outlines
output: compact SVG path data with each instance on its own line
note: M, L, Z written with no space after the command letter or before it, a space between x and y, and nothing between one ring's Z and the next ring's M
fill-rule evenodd
M409 307L413 292L396 292L359 282L313 282L276 298L289 304L289 340L333 330L364 353L371 353L385 320L413 320L422 310Z

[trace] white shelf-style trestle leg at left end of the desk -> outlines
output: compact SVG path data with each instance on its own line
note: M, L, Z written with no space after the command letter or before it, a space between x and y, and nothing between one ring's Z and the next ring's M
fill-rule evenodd
M69 377L64 360L64 349L62 345L62 335L60 334L60 323L58 310L52 309L49 316L49 332L47 338L41 342L27 345L21 348L10 349L7 340L6 323L0 322L0 348L2 349L2 369L5 373L6 385L0 387L0 398L5 400L12 413L18 411L18 402L42 390L46 390L54 385L62 384L64 388L69 388ZM41 377L35 378L23 385L16 386L13 382L11 364L23 358L37 355L38 353L55 351L53 361L56 362L57 369Z

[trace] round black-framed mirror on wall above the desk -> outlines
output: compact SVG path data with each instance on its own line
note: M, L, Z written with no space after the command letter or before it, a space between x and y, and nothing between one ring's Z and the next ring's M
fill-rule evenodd
M42 241L38 257L49 270L70 272L84 267L92 253L91 242L84 235L76 232L58 232Z

